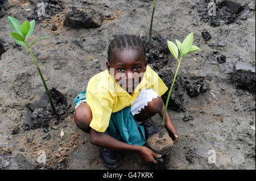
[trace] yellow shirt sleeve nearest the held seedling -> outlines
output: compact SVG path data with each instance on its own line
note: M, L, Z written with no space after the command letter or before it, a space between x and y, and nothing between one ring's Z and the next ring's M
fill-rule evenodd
M148 81L150 81L148 84L151 86L151 89L158 93L159 96L162 96L168 90L168 87L164 84L158 74L156 74L156 72L149 66L147 66L147 71L151 74L151 78L148 78Z

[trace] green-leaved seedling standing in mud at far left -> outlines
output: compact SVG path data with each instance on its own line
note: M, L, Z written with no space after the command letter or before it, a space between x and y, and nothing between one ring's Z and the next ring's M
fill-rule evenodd
M45 37L41 37L40 39L32 42L29 45L27 40L28 40L28 37L30 37L32 35L32 32L35 29L35 20L32 20L31 22L24 22L21 25L20 25L20 23L17 19L15 19L11 16L8 16L8 20L9 20L10 26L15 31L15 32L10 32L11 37L13 37L14 41L17 44L19 44L20 46L28 48L28 50L29 50L34 62L35 62L36 68L38 68L38 72L40 74L40 77L43 81L44 88L46 89L46 94L48 95L49 102L50 102L51 107L52 107L52 112L53 112L54 115L56 115L57 112L56 112L55 106L54 106L53 101L52 101L52 96L51 96L51 94L50 94L50 92L49 92L49 90L46 86L46 81L44 81L43 74L42 74L42 72L41 72L41 70L40 70L40 68L39 68L39 66L38 66L38 64L35 60L35 57L32 54L31 49L30 49L33 44L35 44L39 40L45 39L46 37L48 37L48 35L45 36Z

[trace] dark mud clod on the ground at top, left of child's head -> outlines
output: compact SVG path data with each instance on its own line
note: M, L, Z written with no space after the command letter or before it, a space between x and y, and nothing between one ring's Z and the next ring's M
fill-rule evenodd
M64 26L71 28L94 28L101 26L102 17L93 9L71 7L64 20Z

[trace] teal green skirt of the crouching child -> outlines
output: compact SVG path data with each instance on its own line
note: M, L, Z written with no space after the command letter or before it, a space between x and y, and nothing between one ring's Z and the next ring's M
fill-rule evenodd
M76 96L74 100L75 106L77 106L80 100L86 100L86 91L80 92ZM131 106L112 113L109 120L109 127L105 133L116 140L126 142L130 145L142 146L146 143L144 128L135 122L131 113Z

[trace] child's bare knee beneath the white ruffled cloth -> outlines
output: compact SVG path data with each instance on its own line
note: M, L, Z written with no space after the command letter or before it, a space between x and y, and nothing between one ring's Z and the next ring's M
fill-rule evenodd
M137 115L134 115L134 119L136 121L147 120L150 117L156 115L156 113L159 113L162 107L163 107L163 100L158 96L157 98L152 99L151 102L148 102L147 106L144 107L144 109L142 109L140 113L138 113Z

